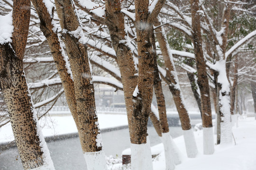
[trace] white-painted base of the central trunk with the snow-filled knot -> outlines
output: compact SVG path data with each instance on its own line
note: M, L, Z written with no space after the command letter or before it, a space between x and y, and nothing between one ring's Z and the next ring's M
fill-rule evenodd
M146 144L131 144L131 170L153 170L148 138Z

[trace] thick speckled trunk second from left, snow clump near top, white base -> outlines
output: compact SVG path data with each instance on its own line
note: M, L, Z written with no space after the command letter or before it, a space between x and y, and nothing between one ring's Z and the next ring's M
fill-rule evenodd
M95 107L91 66L84 42L82 27L71 0L55 0L62 35L73 73L78 131L82 151L88 170L106 170L105 154L102 149L101 133Z

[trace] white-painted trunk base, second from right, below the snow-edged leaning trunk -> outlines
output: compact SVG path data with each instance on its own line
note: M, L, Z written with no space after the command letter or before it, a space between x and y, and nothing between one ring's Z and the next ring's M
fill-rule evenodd
M193 129L191 128L189 130L183 130L183 136L184 136L187 156L189 158L195 158L198 153L198 150L195 142Z

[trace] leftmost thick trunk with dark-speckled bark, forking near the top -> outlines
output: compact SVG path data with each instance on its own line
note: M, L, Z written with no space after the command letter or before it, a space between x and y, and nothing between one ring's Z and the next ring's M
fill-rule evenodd
M24 170L54 170L23 70L29 18L30 1L14 0L14 31L10 41L0 44L0 89L4 93Z

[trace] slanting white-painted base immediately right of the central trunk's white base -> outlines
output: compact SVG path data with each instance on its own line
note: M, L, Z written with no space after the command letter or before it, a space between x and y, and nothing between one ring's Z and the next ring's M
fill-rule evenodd
M162 133L160 137L165 150L165 170L174 170L175 164L180 164L180 155L169 133Z

